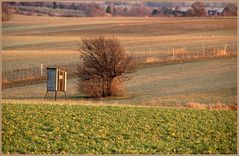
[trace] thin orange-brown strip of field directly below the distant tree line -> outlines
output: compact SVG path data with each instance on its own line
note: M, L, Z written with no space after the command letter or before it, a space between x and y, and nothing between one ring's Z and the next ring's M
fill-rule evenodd
M93 19L93 20L92 20ZM108 21L112 21L112 22L117 22L118 21L124 21L124 22L129 22L131 23L133 22L142 22L141 20L144 19L144 21L147 22L158 22L158 23L168 23L169 22L169 18L168 17L49 17L49 16L24 16L24 15L14 15L13 19L11 21L9 21L8 23L36 23L36 22L42 22L42 23L61 23L62 21L66 21L64 24L69 24L70 23L82 23L82 24L86 24L86 23L107 23ZM159 20L160 19L160 20ZM209 18L196 18L194 17L193 19L191 17L185 17L183 18L183 20L181 20L182 18L170 18L170 21L174 24L180 24L182 22L187 22L190 24L193 24L194 26L197 26L195 24L195 22L205 22L207 20L209 20ZM230 18L210 18L210 20L212 20L215 24L219 24L220 19L225 19L225 20L229 20L230 19L236 19L233 17ZM123 25L124 23L119 23L120 25ZM230 23L227 23L227 25L229 25ZM211 26L211 25L209 25ZM199 26L197 26L199 27ZM214 27L213 25L211 27ZM222 26L218 26L218 28L220 28Z

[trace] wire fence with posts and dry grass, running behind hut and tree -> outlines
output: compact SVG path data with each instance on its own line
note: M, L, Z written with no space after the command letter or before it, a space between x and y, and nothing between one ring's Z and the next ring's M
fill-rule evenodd
M224 44L221 47L200 47L198 49L187 48L171 48L160 51L152 49L128 49L128 53L139 64L147 63L164 63L176 61L188 61L202 58L228 57L237 55L237 48L234 44ZM79 68L83 65L83 60L78 58L74 61L48 64L38 64L32 66L19 67L12 70L3 70L2 85L3 88L19 85L27 85L29 83L37 83L47 78L46 67L55 67L67 71L68 77L74 77Z

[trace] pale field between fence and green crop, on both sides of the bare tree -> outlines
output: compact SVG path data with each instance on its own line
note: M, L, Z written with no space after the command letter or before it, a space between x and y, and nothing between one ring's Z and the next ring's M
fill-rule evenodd
M204 104L236 104L236 58L154 66L138 69L126 82L128 96L106 98L100 102L176 106L190 102ZM46 84L29 85L3 90L4 99L43 99ZM63 93L59 93L63 98ZM81 99L77 79L67 81L67 96ZM52 99L53 93L49 93ZM91 101L95 101L92 99Z

